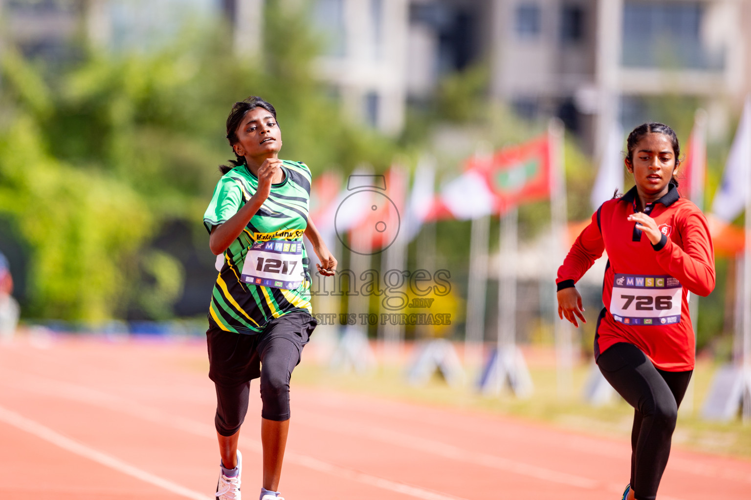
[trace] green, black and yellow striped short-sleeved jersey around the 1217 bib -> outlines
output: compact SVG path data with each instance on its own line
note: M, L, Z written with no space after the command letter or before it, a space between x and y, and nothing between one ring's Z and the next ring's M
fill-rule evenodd
M251 218L243 232L225 250L224 265L216 277L209 316L222 330L255 334L271 319L310 307L310 281L307 274L297 289L286 290L244 283L240 280L245 258L257 241L302 241L308 226L310 169L305 163L283 160L285 178L272 184L269 197ZM258 178L247 166L231 169L219 179L204 226L225 223L240 210L258 189ZM305 245L303 262L307 263Z

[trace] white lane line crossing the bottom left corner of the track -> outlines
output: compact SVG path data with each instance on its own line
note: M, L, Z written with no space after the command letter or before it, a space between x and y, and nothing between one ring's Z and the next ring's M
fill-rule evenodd
M0 406L0 421L17 427L20 430L24 430L40 439L44 439L53 445L59 446L63 450L70 451L73 454L80 455L80 457L101 463L103 466L107 466L117 472L122 472L123 474L140 479L140 481L145 483L153 484L154 486L160 487L161 489L167 490L175 495L184 496L187 499L193 500L211 500L211 497L209 496L205 496L197 491L189 490L188 488L182 487L172 481L160 478L150 472L146 472L143 469L138 469L136 466L131 466L131 464L125 463L111 455L104 454L94 448L82 445L80 442L63 436L49 427L45 427L44 425L32 421L16 412L11 412L11 410L5 409L2 406Z

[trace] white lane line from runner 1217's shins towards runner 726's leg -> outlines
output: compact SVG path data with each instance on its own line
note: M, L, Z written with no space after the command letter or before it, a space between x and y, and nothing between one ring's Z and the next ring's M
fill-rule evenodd
M597 490L603 485L600 481L590 478L554 471L528 463L518 462L496 455L484 454L476 451L467 451L458 446L448 445L444 442L424 439L411 434L400 433L382 427L364 426L345 421L341 418L323 418L315 413L304 411L304 418L300 418L300 424L309 425L332 433L347 433L350 436L359 436L373 441L379 441L392 446L400 446L427 454L437 455L449 460L471 463L477 466L485 466L490 469L498 469L505 472L528 476L530 478L550 481L557 484L565 484L569 487L582 488L584 490Z

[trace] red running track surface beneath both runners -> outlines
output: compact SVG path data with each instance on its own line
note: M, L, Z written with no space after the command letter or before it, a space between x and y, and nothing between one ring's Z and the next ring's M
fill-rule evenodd
M0 346L0 499L212 499L219 458L205 356L201 342ZM240 439L246 500L261 486L260 413L253 398ZM292 419L288 500L616 500L628 481L625 440L516 418L293 382ZM680 448L658 496L749 498L751 462Z

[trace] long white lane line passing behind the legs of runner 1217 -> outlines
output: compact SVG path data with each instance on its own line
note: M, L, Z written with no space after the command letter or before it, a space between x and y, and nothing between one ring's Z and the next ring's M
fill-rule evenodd
M100 408L108 409L113 412L131 415L133 417L140 418L141 420L149 421L154 424L161 424L172 429L182 430L185 433L190 433L195 436L201 436L202 438L216 439L216 430L212 425L192 421L184 417L168 415L166 412L162 412L159 409L144 406L140 403L135 403L134 401L125 400L125 398L117 397L113 394L105 393L104 391L98 391L96 389L88 388L82 385L70 384L68 382L59 382L53 379L42 379L41 377L25 376L23 380L27 384L26 388L24 388L26 390L31 389L38 393L61 397L68 400L74 400L80 403L87 403L89 405L98 406ZM18 388L18 386L14 385L14 388ZM2 407L0 407L0 409L2 409ZM0 419L2 419L2 415L0 415ZM54 433L54 431L51 432ZM72 440L70 441L72 442ZM242 445L243 448L252 450L258 454L261 454L263 451L261 442L243 436L240 436L240 445ZM364 472L356 471L354 469L339 467L334 465L333 463L327 463L314 457L297 454L294 451L286 451L285 462L294 463L298 466L303 466L316 472L324 472L328 475L333 475L336 478L357 481L358 483L367 484L372 487L378 487L382 490L388 490L393 493L402 493L406 496L412 496L415 499L467 500L463 497L453 496L446 493L439 493L433 490L427 490L424 487L417 487L410 484L399 483L397 481L390 481L388 479L379 478L378 476L369 475ZM200 498L202 500L207 499L207 497L204 496L201 496Z

